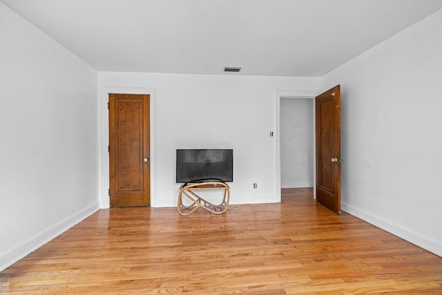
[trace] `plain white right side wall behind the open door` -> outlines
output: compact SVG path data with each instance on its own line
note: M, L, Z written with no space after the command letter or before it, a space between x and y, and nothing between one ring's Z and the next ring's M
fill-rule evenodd
M341 84L343 210L442 256L442 10L322 79Z

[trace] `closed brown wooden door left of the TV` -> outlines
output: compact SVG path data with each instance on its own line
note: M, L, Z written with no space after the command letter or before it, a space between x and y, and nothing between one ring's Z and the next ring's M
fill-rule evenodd
M109 94L111 207L151 204L149 99Z

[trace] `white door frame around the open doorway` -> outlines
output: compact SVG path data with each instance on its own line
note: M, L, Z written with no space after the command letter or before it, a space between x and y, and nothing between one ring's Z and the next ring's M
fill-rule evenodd
M313 198L316 200L316 113L315 113L315 97L320 95L318 91L275 91L275 109L276 109L276 186L275 186L275 196L276 202L281 202L281 142L280 142L280 130L281 130L281 99L291 98L291 99L311 99L311 104L313 105Z

